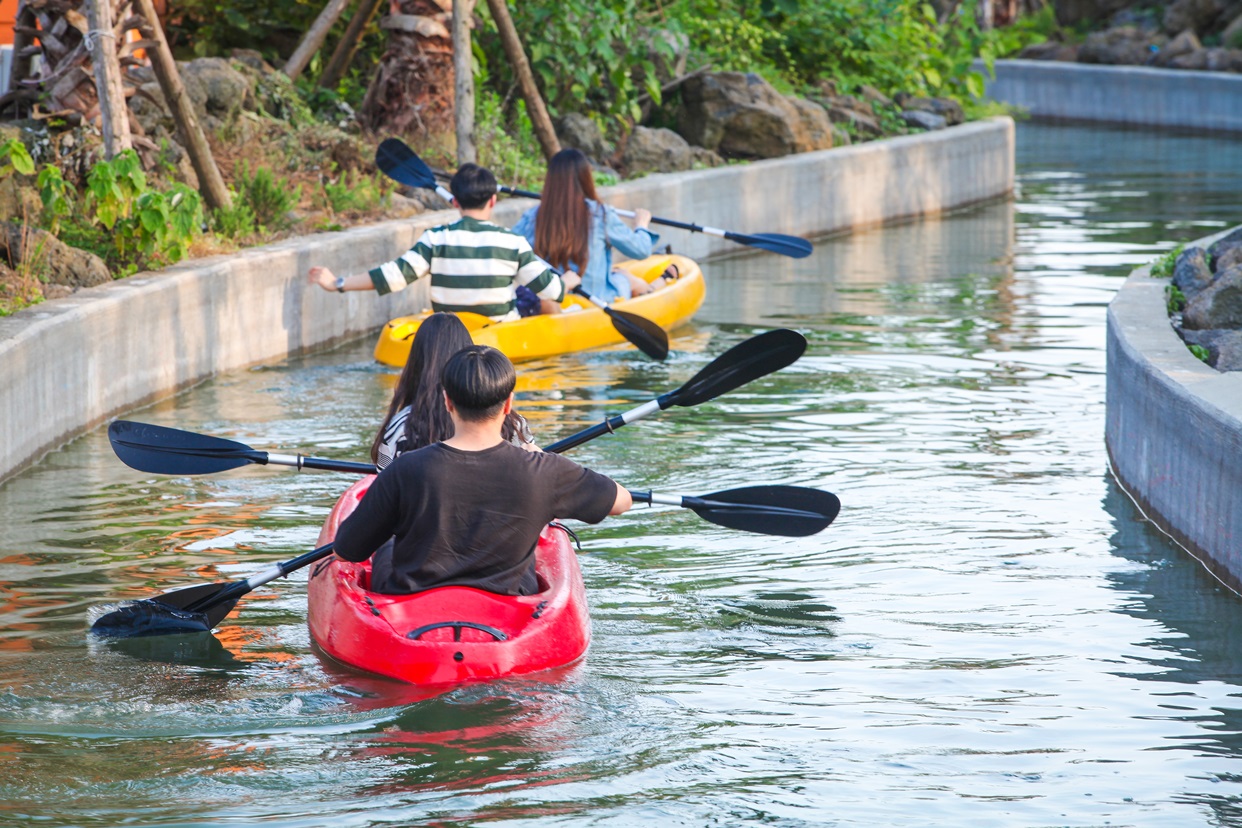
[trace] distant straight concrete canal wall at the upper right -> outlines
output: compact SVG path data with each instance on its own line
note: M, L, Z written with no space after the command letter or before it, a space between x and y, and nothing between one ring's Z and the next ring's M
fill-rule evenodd
M1242 74L996 61L987 97L1035 118L1242 132Z

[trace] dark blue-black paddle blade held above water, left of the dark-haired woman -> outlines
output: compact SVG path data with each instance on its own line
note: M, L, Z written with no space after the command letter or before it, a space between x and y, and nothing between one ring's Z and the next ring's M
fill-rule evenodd
M108 439L125 466L155 474L211 474L266 461L231 439L127 420L108 426Z

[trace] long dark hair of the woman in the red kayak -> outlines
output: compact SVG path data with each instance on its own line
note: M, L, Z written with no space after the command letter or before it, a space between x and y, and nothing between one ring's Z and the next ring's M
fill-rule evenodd
M440 385L440 372L448 359L469 348L474 341L462 320L451 313L433 313L422 320L414 341L410 344L410 359L401 370L401 379L392 391L392 402L371 442L371 462L379 463L380 446L384 444L384 432L392 417L409 406L410 416L405 418L402 441L405 451L431 446L453 436L453 421L445 408L443 386ZM522 418L517 412L509 412L501 430L507 441L520 433ZM399 441L401 442L401 441Z

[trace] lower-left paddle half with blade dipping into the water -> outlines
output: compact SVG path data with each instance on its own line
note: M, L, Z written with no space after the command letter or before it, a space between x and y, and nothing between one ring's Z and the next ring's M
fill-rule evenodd
M241 581L200 583L173 590L154 598L133 601L101 616L91 624L91 632L112 638L211 632L237 606L243 595L329 555L332 544L272 564Z

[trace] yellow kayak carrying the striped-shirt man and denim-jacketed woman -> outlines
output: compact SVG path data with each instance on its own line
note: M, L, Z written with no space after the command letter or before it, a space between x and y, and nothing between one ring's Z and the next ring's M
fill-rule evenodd
M646 295L622 299L612 307L645 317L664 330L689 322L703 304L705 294L703 272L694 259L664 254L622 262L617 267L653 282L669 264L676 264L681 274L676 282ZM457 315L466 323L476 345L499 349L514 362L625 341L607 315L582 297L566 295L561 307L565 313L525 317L514 322L492 322L473 313ZM385 365L404 366L410 358L410 341L430 313L400 317L384 325L380 339L375 343L375 359Z

